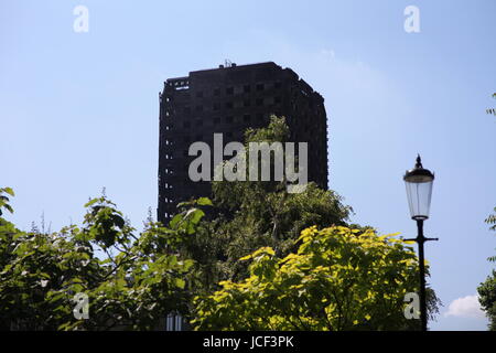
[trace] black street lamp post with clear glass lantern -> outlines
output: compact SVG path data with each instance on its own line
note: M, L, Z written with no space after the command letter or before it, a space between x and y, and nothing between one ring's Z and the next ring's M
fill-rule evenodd
M405 173L405 184L407 185L408 205L410 206L411 218L417 221L417 238L419 245L419 275L420 275L420 320L422 331L427 331L427 303L425 303L425 267L423 259L423 243L438 240L438 238L427 238L423 236L423 221L429 218L431 206L432 184L434 174L422 167L420 154L417 157L416 167Z

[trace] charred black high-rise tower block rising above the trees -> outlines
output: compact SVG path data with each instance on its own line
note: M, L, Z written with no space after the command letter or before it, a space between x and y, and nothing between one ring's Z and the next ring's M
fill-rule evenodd
M309 143L309 181L327 189L324 98L291 68L269 62L195 71L165 81L159 98L159 221L170 220L181 201L211 195L209 182L188 178L191 143L213 150L214 133L223 133L224 145L242 142L248 127L267 126L272 114L285 117L291 141Z

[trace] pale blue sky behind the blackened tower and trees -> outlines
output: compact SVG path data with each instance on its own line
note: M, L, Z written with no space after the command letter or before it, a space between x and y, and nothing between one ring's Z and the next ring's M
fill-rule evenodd
M76 33L76 6L89 11ZM420 10L407 33L403 10ZM433 330L484 330L476 287L496 236L496 1L1 1L0 186L19 227L80 223L109 195L140 227L157 207L159 92L168 77L273 61L325 98L330 188L354 222L414 236L402 174L435 172L425 235ZM324 167L323 167L324 168Z

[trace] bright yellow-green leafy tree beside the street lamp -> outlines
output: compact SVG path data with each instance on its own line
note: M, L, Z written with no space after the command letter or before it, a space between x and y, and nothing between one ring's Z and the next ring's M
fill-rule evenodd
M403 330L403 298L418 288L418 258L407 242L343 226L301 233L296 254L262 247L250 276L223 281L195 299L196 330ZM430 291L430 310L438 299Z

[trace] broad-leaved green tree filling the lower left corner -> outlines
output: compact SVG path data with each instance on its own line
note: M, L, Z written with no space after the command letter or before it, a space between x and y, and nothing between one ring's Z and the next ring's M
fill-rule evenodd
M170 227L150 221L136 235L106 196L86 207L83 227L51 234L21 232L0 217L2 329L150 330L168 313L187 311L193 261L177 246L203 211L185 210ZM87 320L73 314L78 292L89 298Z

